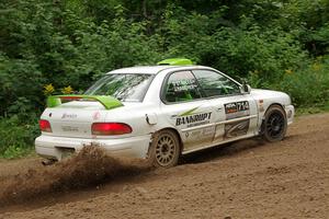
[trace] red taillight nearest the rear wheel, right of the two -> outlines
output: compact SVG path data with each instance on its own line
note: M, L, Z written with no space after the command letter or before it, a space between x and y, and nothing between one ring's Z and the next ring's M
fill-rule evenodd
M94 123L91 126L92 135L98 136L124 135L132 131L132 127L123 123Z

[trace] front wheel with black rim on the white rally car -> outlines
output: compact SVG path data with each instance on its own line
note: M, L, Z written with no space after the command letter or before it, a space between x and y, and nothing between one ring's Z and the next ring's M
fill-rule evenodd
M263 122L263 139L269 142L280 141L284 138L286 129L287 120L283 108L279 105L271 106Z

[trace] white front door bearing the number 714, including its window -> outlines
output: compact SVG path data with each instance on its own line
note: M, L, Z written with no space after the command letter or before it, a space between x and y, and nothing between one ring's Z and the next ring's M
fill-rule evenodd
M258 123L257 103L240 84L213 70L193 70L202 92L214 112L213 143L222 143L254 135Z

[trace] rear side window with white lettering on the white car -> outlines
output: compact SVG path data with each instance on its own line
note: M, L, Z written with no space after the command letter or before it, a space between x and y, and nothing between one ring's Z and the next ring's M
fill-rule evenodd
M164 100L170 103L202 97L200 88L191 71L178 71L170 74L164 89Z

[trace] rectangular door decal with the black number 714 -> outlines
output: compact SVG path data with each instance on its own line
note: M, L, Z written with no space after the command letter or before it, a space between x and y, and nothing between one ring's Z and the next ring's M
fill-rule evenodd
M224 107L226 119L239 118L250 115L248 101L227 103L224 104Z

